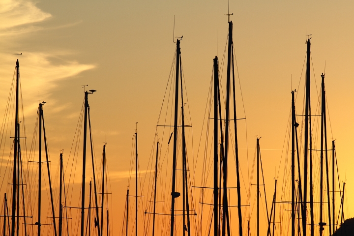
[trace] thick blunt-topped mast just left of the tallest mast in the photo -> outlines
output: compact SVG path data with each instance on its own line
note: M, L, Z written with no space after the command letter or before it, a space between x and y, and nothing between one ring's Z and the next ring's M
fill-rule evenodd
M219 87L219 68L218 58L214 58L214 236L218 236L218 87Z

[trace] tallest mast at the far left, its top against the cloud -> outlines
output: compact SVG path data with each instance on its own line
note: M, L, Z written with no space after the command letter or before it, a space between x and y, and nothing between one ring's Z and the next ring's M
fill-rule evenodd
M16 223L16 168L17 168L17 147L19 143L18 137L18 97L19 97L19 78L20 77L20 64L16 61L16 95L15 95L15 138L14 138L14 160L13 160L13 176L12 176L12 209L11 209L11 236L15 236L15 223Z

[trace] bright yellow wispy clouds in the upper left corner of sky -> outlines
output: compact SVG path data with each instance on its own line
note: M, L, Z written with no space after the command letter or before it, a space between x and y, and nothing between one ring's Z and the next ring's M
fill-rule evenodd
M51 16L50 13L42 11L30 0L0 1L0 36L7 35L0 38L1 44L7 45L7 47L0 49L0 84L2 85L0 88L0 93L2 94L0 94L0 100L3 101L7 98L6 96L15 68L15 57L7 51L10 50L9 48L21 48L21 41L19 40L21 38L26 40L26 34L29 32L33 33L39 29L56 30L74 27L81 23L81 21L78 21L62 26L48 26L46 28L38 26L38 23L48 20ZM13 36L13 34L22 34L23 36L13 43L13 39L8 37ZM72 58L73 56L63 51L31 51L29 46L26 51L14 53L23 53L20 58L22 93L31 99L38 96L38 91L41 91L41 96L48 96L58 86L58 81L74 77L83 71L95 67L93 64L82 64L75 59L63 59ZM60 63L53 62L53 58L57 58L57 61L60 61ZM22 61L24 63L21 64ZM36 100L33 99L32 103L26 103L25 110L33 110L37 105Z

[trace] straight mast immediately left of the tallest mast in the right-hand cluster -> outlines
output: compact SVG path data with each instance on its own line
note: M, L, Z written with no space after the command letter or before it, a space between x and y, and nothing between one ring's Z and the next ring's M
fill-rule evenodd
M295 91L292 91L292 236L295 236Z

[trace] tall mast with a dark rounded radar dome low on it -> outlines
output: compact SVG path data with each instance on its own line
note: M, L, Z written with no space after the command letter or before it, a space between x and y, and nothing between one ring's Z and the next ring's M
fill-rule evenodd
M171 236L174 235L175 226L175 198L180 193L176 190L176 159L177 159L177 121L178 121L178 78L179 78L179 59L180 59L180 40L177 39L176 48L176 91L175 91L175 121L174 121L174 150L173 150L173 168L172 168L172 200L171 200Z

